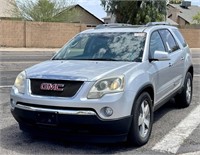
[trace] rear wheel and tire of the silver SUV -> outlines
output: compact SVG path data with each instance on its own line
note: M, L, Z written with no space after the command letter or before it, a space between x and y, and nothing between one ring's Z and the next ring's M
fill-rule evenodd
M183 90L180 94L176 95L175 97L176 105L179 108L186 108L190 105L192 101L192 88L192 75L190 72L187 72Z

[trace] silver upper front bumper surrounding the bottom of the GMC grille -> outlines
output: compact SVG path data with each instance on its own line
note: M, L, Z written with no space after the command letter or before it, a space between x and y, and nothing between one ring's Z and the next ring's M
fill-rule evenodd
M84 85L90 84L89 82ZM27 82L28 85L28 82ZM11 107L15 108L18 102L27 103L28 105L60 107L60 108L87 108L94 109L96 114L102 120L116 120L131 115L131 109L134 101L135 92L125 91L119 93L112 93L103 96L100 99L88 99L88 88L91 86L83 87L74 97L52 97L52 96L36 96L26 89L25 94L20 94L18 90L13 87L11 89L10 100ZM111 116L105 115L104 109L110 107L113 110Z

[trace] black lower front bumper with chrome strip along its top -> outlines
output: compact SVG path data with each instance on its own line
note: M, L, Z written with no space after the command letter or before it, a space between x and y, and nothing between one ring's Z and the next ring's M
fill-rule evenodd
M27 109L21 104L23 106L15 107L11 112L23 130L64 135L65 139L75 141L126 141L132 121L131 116L102 120L92 109L59 110L34 106Z

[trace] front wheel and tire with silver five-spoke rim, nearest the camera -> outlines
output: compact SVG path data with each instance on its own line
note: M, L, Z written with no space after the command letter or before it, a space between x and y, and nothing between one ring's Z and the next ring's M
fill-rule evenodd
M153 125L152 100L147 92L141 93L136 99L132 115L128 142L130 145L142 146L148 142Z

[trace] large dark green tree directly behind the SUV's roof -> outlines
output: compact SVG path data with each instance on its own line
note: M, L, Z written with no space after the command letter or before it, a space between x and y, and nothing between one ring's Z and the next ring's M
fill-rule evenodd
M101 3L107 12L116 16L118 23L146 24L163 21L166 15L166 0L101 0Z

